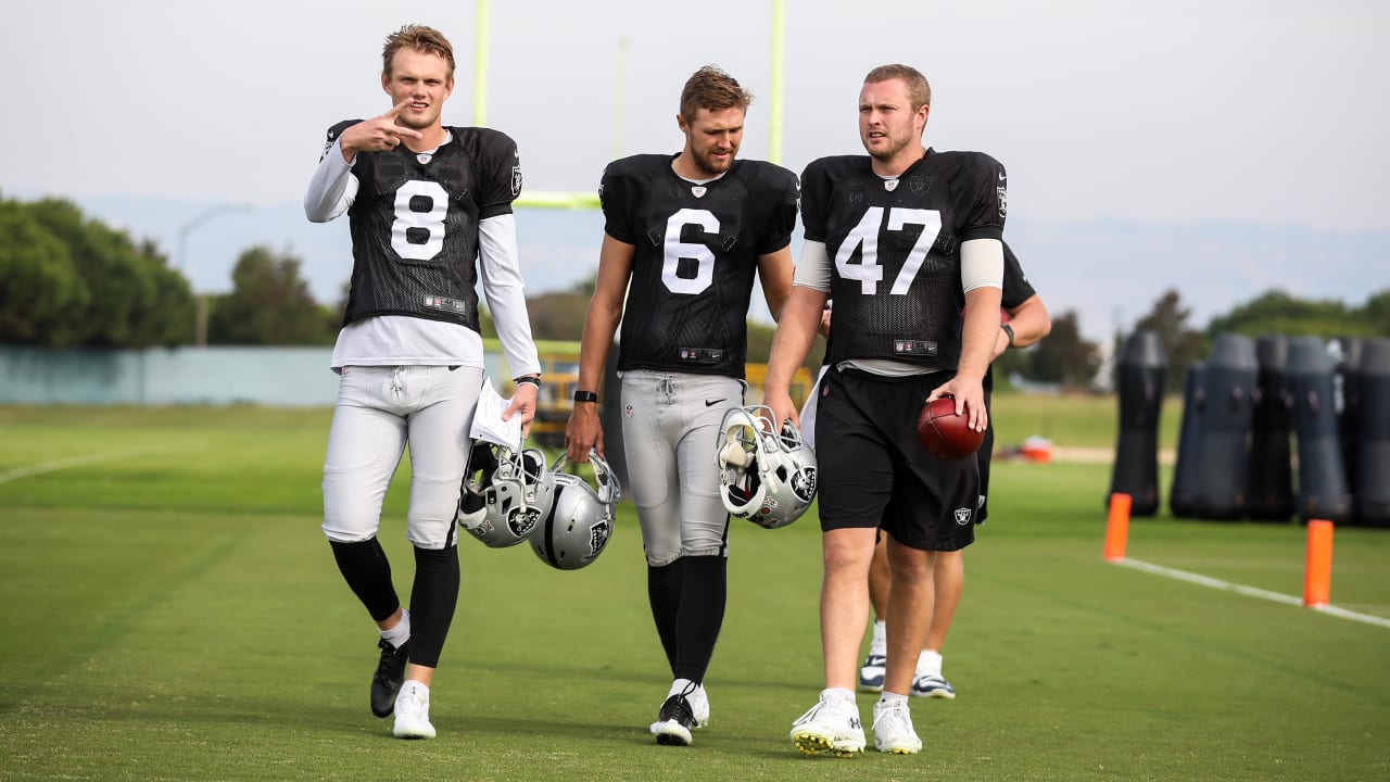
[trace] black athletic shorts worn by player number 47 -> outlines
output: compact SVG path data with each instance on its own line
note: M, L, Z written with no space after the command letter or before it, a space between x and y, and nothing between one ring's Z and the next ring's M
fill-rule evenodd
M977 462L944 462L917 441L923 401L949 378L826 373L816 412L823 532L881 526L924 551L958 551L974 541Z

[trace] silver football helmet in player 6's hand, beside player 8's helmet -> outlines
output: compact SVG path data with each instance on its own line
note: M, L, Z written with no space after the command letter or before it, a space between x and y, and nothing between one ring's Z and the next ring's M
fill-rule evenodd
M564 454L550 465L555 502L531 536L531 550L560 570L578 570L599 558L613 536L613 516L623 490L598 451L589 451L598 491L577 474L563 472Z

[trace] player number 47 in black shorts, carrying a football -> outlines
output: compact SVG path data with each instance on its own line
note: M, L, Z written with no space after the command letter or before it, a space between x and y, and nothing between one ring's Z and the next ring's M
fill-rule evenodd
M791 729L810 754L865 749L855 682L880 526L892 591L874 746L920 751L908 694L931 616L935 552L974 540L974 459L931 456L913 423L923 399L942 395L972 427L988 423L983 380L999 331L1006 174L983 153L924 147L930 103L915 68L874 68L859 93L869 154L823 157L802 174L806 241L773 338L766 404L776 420L798 420L792 373L833 296L816 413L826 687Z

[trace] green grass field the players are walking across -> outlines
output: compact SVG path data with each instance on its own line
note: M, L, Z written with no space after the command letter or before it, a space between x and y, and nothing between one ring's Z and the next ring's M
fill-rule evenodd
M1001 445L1113 442L1113 399L997 409ZM585 570L464 541L439 739L395 740L318 530L329 415L0 408L0 779L1390 779L1390 629L1102 562L1109 468L1058 462L995 468L945 648L959 697L913 701L920 756L787 740L820 686L810 519L734 526L712 725L659 747L627 504ZM402 593L404 500L398 481L382 533ZM1336 534L1333 603L1390 616L1390 530ZM1294 523L1159 516L1129 555L1297 596L1302 545Z

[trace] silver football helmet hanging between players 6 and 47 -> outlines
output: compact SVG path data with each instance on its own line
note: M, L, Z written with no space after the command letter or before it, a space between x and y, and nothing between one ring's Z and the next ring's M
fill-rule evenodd
M773 431L760 405L724 413L719 474L724 509L770 530L799 519L816 497L816 452L791 422Z

